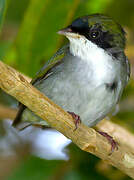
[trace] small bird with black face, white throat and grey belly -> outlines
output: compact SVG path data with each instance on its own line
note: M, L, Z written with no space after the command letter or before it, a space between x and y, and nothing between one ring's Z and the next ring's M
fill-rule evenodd
M125 31L112 18L93 14L77 18L58 33L66 36L69 44L57 51L31 83L68 111L76 128L80 121L94 126L119 102L130 77ZM20 121L47 125L22 104L13 126ZM113 138L99 133L114 150Z

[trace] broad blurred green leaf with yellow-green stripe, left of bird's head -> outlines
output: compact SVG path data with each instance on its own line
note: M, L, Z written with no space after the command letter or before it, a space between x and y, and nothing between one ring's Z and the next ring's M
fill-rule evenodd
M61 40L56 32L71 21L79 1L31 0L7 59L13 57L21 72L35 74L42 59L48 60L59 47Z

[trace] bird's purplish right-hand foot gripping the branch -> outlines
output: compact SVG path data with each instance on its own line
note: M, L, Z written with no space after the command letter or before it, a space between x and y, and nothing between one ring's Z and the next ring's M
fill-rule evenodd
M102 136L104 136L105 138L107 138L108 142L111 144L111 152L109 153L109 155L111 155L114 152L114 150L118 150L118 143L113 139L112 136L108 135L106 132L102 132L102 131L97 131L97 132Z

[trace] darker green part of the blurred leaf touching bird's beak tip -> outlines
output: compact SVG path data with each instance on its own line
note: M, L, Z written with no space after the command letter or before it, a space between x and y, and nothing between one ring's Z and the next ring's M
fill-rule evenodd
M55 53L56 47L60 46L62 36L58 35L57 31L72 20L79 0L55 0L55 4L58 6L55 6L53 1L49 1L47 11L40 19L39 28L32 43L33 72L38 70L37 67L40 67L41 61L43 63L47 61Z

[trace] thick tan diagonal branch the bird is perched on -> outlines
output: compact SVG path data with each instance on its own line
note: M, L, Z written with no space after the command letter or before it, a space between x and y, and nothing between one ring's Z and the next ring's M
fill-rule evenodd
M29 84L19 72L2 62L0 62L0 88L25 104L35 114L47 121L51 127L71 139L82 150L100 157L134 178L134 147L131 145L132 141L134 142L134 136L126 130L120 127L124 134L117 136L119 149L109 156L111 146L104 137L83 124L80 124L78 129L74 131L73 119L67 112ZM114 131L118 132L117 128L119 126L116 127L112 123L110 126L111 129L113 128ZM124 141L126 135L127 144ZM130 143L129 138L132 139Z

